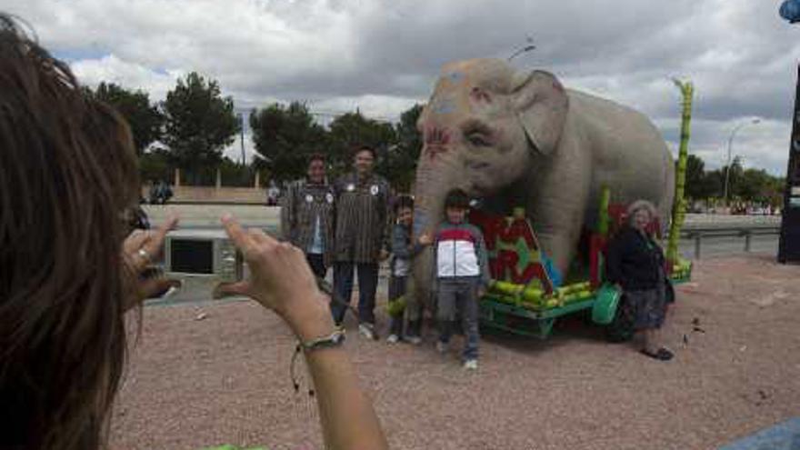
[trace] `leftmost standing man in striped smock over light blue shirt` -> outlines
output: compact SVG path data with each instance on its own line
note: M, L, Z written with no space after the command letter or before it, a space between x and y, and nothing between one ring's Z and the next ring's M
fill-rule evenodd
M284 238L305 252L320 278L325 278L334 254L334 200L334 188L325 178L325 157L312 155L308 175L288 186L281 205Z

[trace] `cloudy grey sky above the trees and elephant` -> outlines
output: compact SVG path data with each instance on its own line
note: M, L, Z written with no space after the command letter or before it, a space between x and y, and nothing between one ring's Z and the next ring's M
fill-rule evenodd
M649 115L675 148L679 93L695 83L690 152L785 173L800 25L780 0L4 0L87 85L163 99L175 79L217 79L237 108L303 100L319 114L394 121L441 65L502 57ZM248 144L249 147L249 144ZM235 155L235 152L231 152Z

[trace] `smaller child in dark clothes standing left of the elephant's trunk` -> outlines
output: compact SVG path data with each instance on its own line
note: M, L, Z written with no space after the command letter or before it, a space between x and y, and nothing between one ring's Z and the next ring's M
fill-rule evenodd
M392 264L389 278L389 300L396 301L407 293L408 275L411 271L411 259L418 254L423 245L411 243L411 225L414 222L414 199L410 196L398 197L395 204L397 222L392 230ZM412 299L406 299L412 300ZM389 336L386 342L394 344L405 339L411 344L419 344L421 316L416 302L406 301L405 314L408 318L406 334L403 333L403 314L392 317L389 325Z

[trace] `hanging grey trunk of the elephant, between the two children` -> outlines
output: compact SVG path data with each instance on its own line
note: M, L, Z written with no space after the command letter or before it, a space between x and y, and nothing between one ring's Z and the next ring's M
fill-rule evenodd
M423 148L416 168L414 239L425 233L435 233L436 225L445 217L447 193L457 187L466 187L466 180L459 179L462 171L463 165L455 155ZM416 295L425 303L431 298L434 281L433 256L433 248L429 247L415 257L412 266Z

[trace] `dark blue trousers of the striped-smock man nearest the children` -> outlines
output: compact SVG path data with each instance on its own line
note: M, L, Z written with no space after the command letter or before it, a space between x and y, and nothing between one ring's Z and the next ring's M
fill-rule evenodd
M375 292L378 287L377 263L334 263L334 289L340 302L331 303L331 313L336 324L345 320L350 296L353 294L353 272L358 271L358 322L375 324Z

